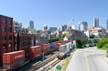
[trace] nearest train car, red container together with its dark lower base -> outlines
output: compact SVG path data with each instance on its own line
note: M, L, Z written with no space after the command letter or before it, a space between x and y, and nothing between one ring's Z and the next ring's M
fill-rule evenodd
M25 51L14 51L3 54L3 67L8 70L14 70L24 64Z

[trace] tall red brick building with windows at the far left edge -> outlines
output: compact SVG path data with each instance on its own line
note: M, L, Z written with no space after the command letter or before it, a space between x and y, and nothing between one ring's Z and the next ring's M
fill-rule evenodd
M13 18L0 15L0 29L0 66L2 66L2 54L14 51Z

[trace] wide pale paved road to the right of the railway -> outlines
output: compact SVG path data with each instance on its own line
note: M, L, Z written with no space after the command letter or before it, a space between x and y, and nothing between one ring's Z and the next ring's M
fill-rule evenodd
M108 71L106 51L96 47L78 49L74 52L66 71Z

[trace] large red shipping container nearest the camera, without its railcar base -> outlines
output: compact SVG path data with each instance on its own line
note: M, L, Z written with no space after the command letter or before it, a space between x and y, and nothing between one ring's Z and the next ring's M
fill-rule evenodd
M3 54L3 64L12 64L25 59L24 50L9 52Z

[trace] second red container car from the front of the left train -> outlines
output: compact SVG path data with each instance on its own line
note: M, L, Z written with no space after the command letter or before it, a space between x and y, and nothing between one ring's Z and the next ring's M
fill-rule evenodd
M33 60L35 58L38 58L42 55L42 48L40 46L33 46L31 47L31 55L30 58Z

